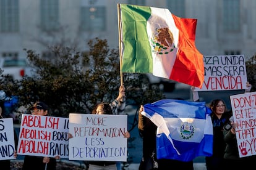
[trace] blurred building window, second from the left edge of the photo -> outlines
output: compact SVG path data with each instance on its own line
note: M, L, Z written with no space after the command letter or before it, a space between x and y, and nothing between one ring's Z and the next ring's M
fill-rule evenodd
M58 0L41 0L41 29L58 30L59 28L59 1Z

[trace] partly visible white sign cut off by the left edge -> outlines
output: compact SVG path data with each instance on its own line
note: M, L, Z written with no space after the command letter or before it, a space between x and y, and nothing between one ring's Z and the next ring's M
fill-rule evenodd
M0 160L15 159L14 151L15 142L13 119L0 119Z

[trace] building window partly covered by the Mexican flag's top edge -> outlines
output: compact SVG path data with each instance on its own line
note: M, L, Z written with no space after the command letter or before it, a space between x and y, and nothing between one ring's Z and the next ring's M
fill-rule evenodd
M185 18L185 1L171 0L167 2L168 9L177 17Z

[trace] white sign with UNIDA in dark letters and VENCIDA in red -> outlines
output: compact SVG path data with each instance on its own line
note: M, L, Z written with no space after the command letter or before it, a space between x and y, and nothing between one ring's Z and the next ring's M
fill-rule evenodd
M203 56L205 79L202 89L195 91L226 91L246 89L247 74L244 55Z

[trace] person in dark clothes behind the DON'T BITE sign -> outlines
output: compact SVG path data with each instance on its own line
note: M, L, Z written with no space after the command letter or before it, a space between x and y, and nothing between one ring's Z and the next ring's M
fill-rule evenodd
M251 88L252 88L252 85L250 83L247 83L247 89L245 89L245 93L250 92ZM225 127L223 129L224 141L227 144L224 152L224 162L225 162L224 167L226 169L234 169L234 170L252 169L252 167L255 167L256 155L239 158L239 151L238 151L237 140L236 140L236 127L238 124L234 123L234 120L232 117L229 119L229 122L227 124L230 124L231 128ZM245 148L244 148L244 152L247 152Z

